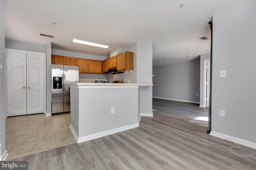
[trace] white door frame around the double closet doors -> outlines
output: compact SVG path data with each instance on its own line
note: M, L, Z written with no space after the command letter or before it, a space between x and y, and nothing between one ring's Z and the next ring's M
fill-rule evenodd
M7 81L7 51L15 51L15 52L21 52L21 53L32 53L32 54L40 54L44 56L44 113L46 112L46 53L41 53L41 52L35 52L35 51L26 51L26 50L17 50L17 49L8 49L5 48L5 101L6 101L6 107L5 107L5 117L7 117L7 86L6 86L6 81Z

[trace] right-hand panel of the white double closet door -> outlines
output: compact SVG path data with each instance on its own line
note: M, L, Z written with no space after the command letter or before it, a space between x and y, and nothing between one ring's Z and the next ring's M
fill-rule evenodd
M44 113L44 55L27 53L27 114Z

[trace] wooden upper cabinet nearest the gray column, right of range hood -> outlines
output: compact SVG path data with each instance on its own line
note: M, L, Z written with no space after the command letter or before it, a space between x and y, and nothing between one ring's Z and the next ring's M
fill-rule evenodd
M133 53L125 51L116 56L116 66L118 71L133 70Z

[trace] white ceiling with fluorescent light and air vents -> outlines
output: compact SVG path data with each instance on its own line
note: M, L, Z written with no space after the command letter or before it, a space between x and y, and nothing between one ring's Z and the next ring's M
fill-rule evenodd
M152 41L153 66L159 66L210 53L210 39L199 38L210 38L212 16L246 1L5 0L5 38L39 44L48 41L52 49L100 56L135 42ZM111 47L72 43L73 38Z

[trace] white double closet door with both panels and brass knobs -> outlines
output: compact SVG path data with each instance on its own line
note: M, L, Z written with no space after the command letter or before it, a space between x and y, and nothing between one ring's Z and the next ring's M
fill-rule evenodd
M7 116L44 113L44 53L6 50Z

